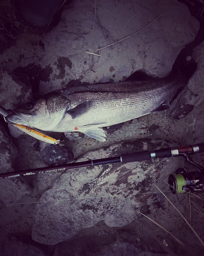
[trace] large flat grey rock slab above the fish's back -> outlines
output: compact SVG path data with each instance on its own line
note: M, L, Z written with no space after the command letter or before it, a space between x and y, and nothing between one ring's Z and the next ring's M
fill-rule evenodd
M7 71L27 73L41 94L66 87L72 79L118 81L141 68L165 76L198 29L198 21L176 0L97 1L96 12L94 2L77 0L63 10L60 23L40 37L43 47L38 36L25 33L0 60ZM101 56L90 54L96 51Z

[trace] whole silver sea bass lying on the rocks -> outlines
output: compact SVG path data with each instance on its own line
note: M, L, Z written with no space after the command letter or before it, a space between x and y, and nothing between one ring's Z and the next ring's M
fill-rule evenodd
M122 82L90 84L48 93L27 108L13 111L7 122L52 132L82 132L99 141L101 127L125 122L169 108L177 89L183 87L197 63L188 56L175 61L164 78L138 70Z

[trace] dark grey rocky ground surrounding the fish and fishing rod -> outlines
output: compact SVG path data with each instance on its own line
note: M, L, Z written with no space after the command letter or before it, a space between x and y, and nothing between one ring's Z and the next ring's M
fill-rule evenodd
M142 68L163 77L171 71L181 49L197 35L198 20L202 22L201 12L197 20L184 4L173 0L95 4L77 0L65 5L61 19L58 16L55 26L52 22L44 30L32 27L18 15L13 17L15 8L10 9L11 30L0 30L1 105L14 109L53 90L83 82L124 80ZM98 50L147 24L129 39ZM193 49L198 68L169 110L106 127L106 142L80 133L52 133L63 143L48 145L16 134L15 127L10 129L10 137L2 119L2 172L64 164L73 158L79 162L203 142L203 57L201 42ZM194 157L203 165L202 158L203 154ZM198 214L197 208L192 208L190 214L189 198L180 194L178 200L167 185L169 174L179 167L184 167L183 158L152 159L0 180L0 255L190 253L185 251L188 246L177 244L139 212L159 222L199 255L199 241L154 185L191 219L202 237L202 195L201 199L190 197L200 210Z

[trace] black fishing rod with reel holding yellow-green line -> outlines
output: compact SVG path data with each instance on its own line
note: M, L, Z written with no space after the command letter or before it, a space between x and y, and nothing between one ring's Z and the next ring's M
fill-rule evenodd
M0 179L13 178L20 176L28 176L34 174L45 174L52 172L61 172L68 169L95 166L100 164L110 163L130 163L130 162L141 162L150 160L152 158L167 158L176 156L185 156L186 160L199 169L199 172L188 172L186 167L179 168L175 174L171 174L168 179L170 191L173 194L177 193L189 193L189 192L202 192L204 191L204 167L193 162L189 155L194 153L204 152L204 143L195 145L181 146L181 147L167 147L160 150L154 151L141 151L135 153L122 154L117 157L101 158L95 160L88 160L78 163L68 163L63 165L57 165L53 167L42 167L29 170L20 170L18 172L10 172L0 174Z

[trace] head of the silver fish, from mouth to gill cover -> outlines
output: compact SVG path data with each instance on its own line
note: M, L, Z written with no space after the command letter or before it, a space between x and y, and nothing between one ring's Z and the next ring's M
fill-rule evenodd
M8 123L17 123L43 131L52 131L70 107L70 100L58 93L49 93L24 109L14 110L6 117Z

